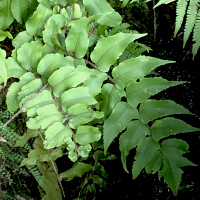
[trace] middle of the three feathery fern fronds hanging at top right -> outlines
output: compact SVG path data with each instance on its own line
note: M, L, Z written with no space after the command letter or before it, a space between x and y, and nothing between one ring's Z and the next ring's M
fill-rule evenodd
M183 48L185 47L185 44L190 36L190 33L194 28L195 21L197 18L198 7L199 7L198 0L190 0L190 4L187 10L187 19L184 30Z

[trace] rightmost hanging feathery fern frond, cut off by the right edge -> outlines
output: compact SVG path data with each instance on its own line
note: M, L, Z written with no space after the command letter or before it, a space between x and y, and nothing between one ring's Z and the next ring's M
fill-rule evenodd
M200 9L197 14L197 19L194 27L194 33L193 33L193 41L195 42L192 46L192 54L193 54L193 60L195 55L197 54L197 51L200 47Z

